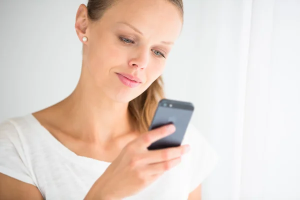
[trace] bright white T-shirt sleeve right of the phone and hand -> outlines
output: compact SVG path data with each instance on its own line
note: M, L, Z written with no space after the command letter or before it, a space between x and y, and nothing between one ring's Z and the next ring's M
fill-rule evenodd
M191 153L191 179L189 192L193 191L214 169L218 155L210 146L206 139L197 131L197 129L189 125L188 143L190 144Z

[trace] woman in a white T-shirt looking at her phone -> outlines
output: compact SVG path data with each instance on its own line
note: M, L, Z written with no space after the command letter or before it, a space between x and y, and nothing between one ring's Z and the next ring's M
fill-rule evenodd
M81 4L74 91L0 125L1 199L200 199L216 155L191 125L181 146L146 148L175 128L147 131L182 21L181 0Z

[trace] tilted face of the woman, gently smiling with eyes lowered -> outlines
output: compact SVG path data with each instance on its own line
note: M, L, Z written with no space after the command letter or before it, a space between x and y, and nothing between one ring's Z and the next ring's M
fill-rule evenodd
M82 70L106 96L129 102L161 75L181 26L167 0L120 0L88 25Z

